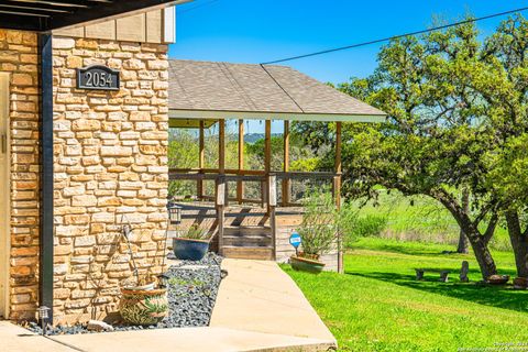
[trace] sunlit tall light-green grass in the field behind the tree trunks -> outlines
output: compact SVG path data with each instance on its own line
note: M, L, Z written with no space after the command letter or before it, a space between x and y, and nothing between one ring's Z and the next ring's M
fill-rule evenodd
M449 243L452 246L459 241L457 221L438 201L426 196L406 197L395 190L381 190L377 204L369 202L360 209L359 216L385 218L387 224L380 234L385 239ZM490 246L502 251L512 249L506 229L497 227Z

